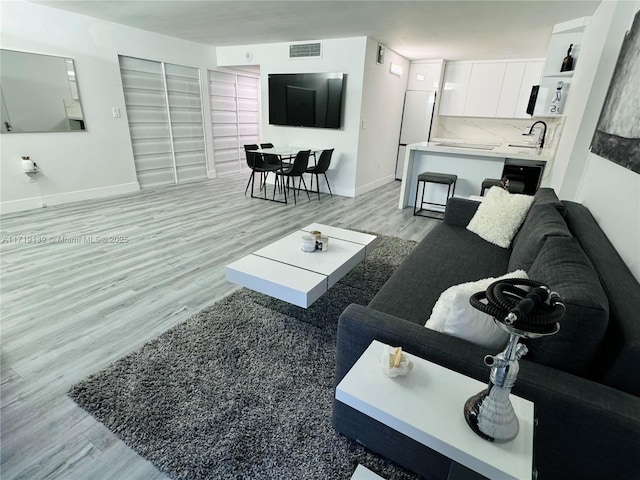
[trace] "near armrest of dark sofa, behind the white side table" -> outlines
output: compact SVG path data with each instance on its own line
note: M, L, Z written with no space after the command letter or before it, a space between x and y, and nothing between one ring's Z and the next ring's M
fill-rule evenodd
M489 378L484 356L497 353L393 315L350 305L338 323L336 385L373 340L402 346L413 355L482 382ZM520 361L513 393L535 403L539 421L535 465L540 478L633 478L640 471L640 398L526 360ZM336 413L344 408L338 403L334 402L334 425L342 431L336 422L350 417L344 410ZM350 415L360 422L349 427L350 431L364 432L366 419L354 412ZM387 434L386 429L367 423L366 438L359 433L359 440L374 443ZM405 442L415 451L412 440Z

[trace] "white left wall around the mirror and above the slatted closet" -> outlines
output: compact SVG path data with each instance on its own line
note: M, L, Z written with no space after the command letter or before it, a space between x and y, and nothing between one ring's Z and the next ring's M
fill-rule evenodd
M203 93L206 69L215 67L212 47L21 0L2 2L1 22L2 48L75 60L87 126L85 132L1 135L2 213L139 189L118 54L200 67ZM112 107L120 108L121 118L112 117ZM38 182L22 173L21 155L41 168Z

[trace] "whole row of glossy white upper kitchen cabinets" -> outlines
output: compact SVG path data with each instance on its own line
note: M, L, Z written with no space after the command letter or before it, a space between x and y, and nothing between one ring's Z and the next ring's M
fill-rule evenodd
M529 118L531 87L540 83L543 67L543 59L448 63L439 114Z

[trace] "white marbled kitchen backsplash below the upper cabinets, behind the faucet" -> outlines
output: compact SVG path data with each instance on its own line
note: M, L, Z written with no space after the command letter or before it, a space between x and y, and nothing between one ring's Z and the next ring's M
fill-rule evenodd
M537 120L547 124L545 147L555 149L560 140L564 117L526 118L481 118L438 116L434 119L431 138L473 140L486 143L509 143L527 141L525 129Z

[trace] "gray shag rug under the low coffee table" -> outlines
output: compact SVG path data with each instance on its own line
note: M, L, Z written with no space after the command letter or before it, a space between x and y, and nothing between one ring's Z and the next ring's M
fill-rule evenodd
M415 242L381 236L304 310L240 289L72 387L69 396L174 479L417 478L331 424L338 316L367 305Z

